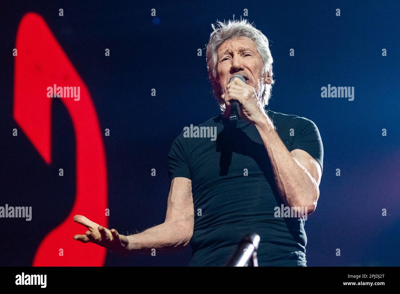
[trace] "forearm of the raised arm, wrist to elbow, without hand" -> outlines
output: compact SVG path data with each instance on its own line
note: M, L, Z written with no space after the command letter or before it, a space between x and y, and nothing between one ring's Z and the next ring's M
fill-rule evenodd
M311 175L290 154L268 116L263 116L254 125L268 152L282 200L287 206L307 207L308 214L311 213L315 209L318 193Z

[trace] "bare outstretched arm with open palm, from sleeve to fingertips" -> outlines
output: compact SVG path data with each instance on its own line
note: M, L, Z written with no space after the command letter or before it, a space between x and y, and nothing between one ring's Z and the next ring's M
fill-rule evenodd
M74 240L92 242L121 253L148 253L152 248L184 248L190 242L194 228L192 181L182 177L172 179L164 223L144 232L124 236L115 229L104 228L82 215L74 216L74 221L89 229L84 235L75 235Z

